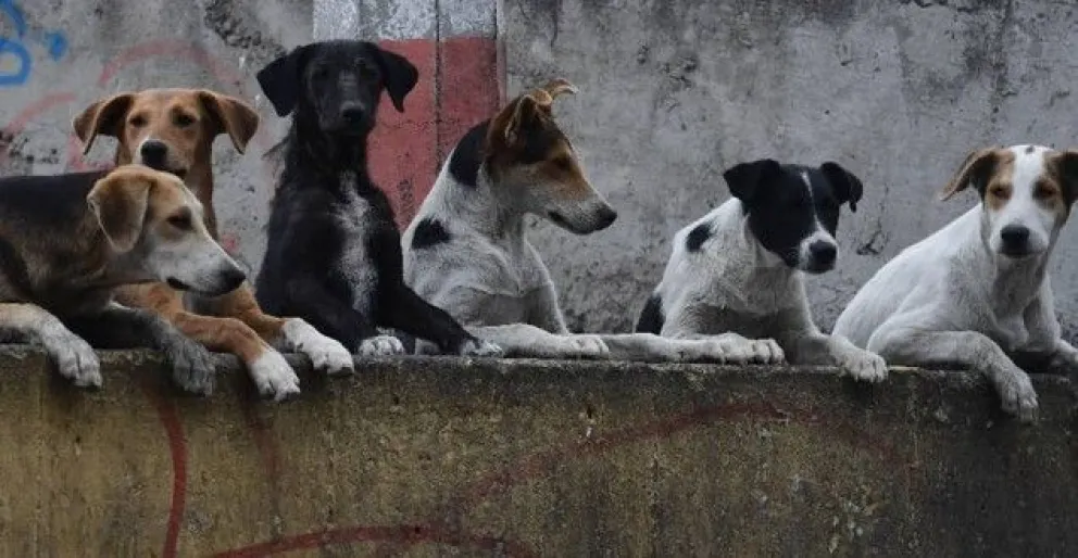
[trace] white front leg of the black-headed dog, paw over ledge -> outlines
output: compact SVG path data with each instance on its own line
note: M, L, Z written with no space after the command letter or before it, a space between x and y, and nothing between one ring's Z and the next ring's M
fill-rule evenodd
M887 378L887 362L883 357L854 345L842 335L828 335L818 330L797 330L784 332L778 339L792 364L838 365L843 373L867 382L879 382Z

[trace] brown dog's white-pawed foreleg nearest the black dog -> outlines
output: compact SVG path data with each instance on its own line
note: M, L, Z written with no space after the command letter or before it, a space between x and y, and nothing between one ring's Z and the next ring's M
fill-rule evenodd
M242 321L268 343L284 344L287 350L306 355L316 370L330 375L353 370L352 354L344 345L323 335L302 318L278 318L263 313L249 283L212 299L210 309L214 315Z

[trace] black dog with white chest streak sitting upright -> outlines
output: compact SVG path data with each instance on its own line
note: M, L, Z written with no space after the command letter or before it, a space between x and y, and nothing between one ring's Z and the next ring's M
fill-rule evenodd
M367 174L367 136L381 91L404 112L418 72L365 41L298 47L258 74L278 116L292 114L255 288L265 312L297 316L351 351L400 354L403 330L443 353L498 356L404 284L400 232Z

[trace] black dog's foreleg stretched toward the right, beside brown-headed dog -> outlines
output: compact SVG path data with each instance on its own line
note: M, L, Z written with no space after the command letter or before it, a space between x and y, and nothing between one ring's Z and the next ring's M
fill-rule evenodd
M500 346L478 339L448 312L428 303L403 282L394 284L379 308L378 324L434 342L442 353L502 356Z

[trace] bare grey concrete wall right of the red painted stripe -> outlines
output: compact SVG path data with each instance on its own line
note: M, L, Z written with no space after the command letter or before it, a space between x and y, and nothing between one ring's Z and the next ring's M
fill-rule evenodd
M829 328L902 248L975 203L938 202L989 144L1076 144L1076 5L1051 0L505 0L506 90L562 75L555 112L621 212L588 238L542 224L575 329L630 327L680 227L728 198L740 161L835 160L865 181L839 223L837 272L810 280ZM1078 263L1060 242L1053 286L1068 337ZM597 292L602 286L602 292Z

